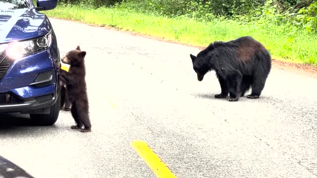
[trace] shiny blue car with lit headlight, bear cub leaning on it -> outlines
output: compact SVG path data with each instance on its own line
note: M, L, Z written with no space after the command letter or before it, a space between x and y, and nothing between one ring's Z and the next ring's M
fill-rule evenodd
M59 114L60 56L49 18L57 0L0 0L0 113L53 125Z

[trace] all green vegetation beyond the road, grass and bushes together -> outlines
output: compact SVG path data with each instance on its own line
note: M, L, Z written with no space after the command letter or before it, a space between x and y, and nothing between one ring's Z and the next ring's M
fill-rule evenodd
M170 37L199 45L207 45L213 40L230 40L251 35L266 44L274 55L305 63L316 63L317 60L317 50L314 47L317 42L317 0L59 0L59 2L62 2L59 4L63 7L67 6L73 10L77 8L74 17L85 22L111 24L117 28L154 33L165 38ZM89 11L89 15L87 13L84 15L85 9ZM130 18L135 14L140 17ZM156 21L152 18L158 19ZM142 30L139 27L142 27Z

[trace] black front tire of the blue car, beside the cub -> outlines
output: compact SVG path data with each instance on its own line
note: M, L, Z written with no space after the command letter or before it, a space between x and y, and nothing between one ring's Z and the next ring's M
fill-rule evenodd
M57 121L60 110L60 94L53 106L50 114L30 114L31 120L38 126L52 126Z

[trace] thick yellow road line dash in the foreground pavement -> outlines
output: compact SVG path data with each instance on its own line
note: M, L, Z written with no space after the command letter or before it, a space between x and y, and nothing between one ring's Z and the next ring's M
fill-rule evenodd
M130 145L153 170L157 178L176 178L176 176L170 172L167 166L159 159L158 155L153 152L146 142L134 140L130 143Z

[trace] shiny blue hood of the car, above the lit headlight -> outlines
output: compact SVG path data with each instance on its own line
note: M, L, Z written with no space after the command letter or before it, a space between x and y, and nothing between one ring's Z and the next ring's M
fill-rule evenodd
M34 8L0 10L0 44L33 39L50 30L48 18Z

